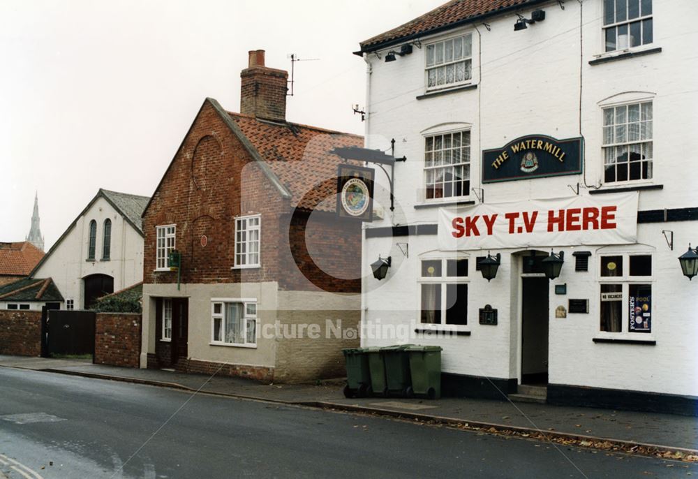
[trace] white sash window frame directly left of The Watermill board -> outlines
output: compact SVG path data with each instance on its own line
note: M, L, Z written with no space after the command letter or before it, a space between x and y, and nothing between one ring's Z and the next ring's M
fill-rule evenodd
M455 134L461 135L461 151L459 152L460 155L460 161L459 163L444 163L445 162L445 156L446 153L450 156L450 159L453 158L453 152L454 152L454 147L453 147L453 135ZM468 135L468 144L467 148L465 147L465 143L463 142L463 138L465 135ZM424 133L424 165L422 167L422 187L424 188L424 197L423 200L426 203L433 203L433 202L451 202L454 200L463 200L464 198L468 198L470 196L470 185L472 182L472 168L473 168L473 158L471 155L471 150L473 147L473 138L471 134L470 128L457 128L457 129L452 129L452 130L447 130L447 131L433 131L431 133ZM436 148L436 138L440 137L441 138L441 147L439 149ZM451 146L448 147L447 149L443 146L445 145L445 138L450 137L450 142ZM431 149L429 149L429 139L431 139ZM437 154L441 154L441 159L437 160ZM439 161L439 164L436 164L437 161ZM452 161L452 160L450 160ZM468 186L465 188L466 191L461 190L461 195L455 196L452 194L451 196L441 196L440 198L429 198L429 194L427 193L429 191L429 172L433 172L434 176L434 191L436 194L436 174L438 171L443 170L446 171L448 168L451 168L451 171L454 170L454 168L462 168L463 173L461 178L461 181L466 181L468 182ZM465 171L467 170L467 175L465 174ZM452 174L453 176L453 174ZM445 192L445 185L446 182L442 183L444 185L444 192ZM451 180L452 184L452 193L454 192L456 182L452 179Z

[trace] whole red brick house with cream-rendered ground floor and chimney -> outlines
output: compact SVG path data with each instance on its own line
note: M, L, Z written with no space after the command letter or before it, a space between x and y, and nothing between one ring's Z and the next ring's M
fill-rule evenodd
M341 348L358 345L361 226L335 214L329 152L363 139L286 121L288 73L263 50L241 78L241 112L206 98L144 211L140 365L341 376Z

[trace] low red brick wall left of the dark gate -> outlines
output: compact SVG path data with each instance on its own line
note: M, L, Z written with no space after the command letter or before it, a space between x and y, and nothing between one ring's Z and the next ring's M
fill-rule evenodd
M41 311L0 310L0 354L41 355Z

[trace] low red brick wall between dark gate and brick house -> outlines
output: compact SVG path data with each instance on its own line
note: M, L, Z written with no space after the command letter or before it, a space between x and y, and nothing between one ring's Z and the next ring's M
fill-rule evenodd
M139 367L140 314L98 313L95 319L94 362Z

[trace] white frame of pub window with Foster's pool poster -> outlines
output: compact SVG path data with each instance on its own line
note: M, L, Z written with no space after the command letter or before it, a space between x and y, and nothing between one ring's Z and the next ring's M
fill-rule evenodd
M623 274L621 276L602 276L602 258L607 258L609 256L621 256L623 257ZM631 256L650 256L652 262L652 274L650 276L630 276L630 257ZM596 316L595 325L595 337L597 338L610 338L610 339L638 339L638 340L652 340L655 330L655 319L657 311L657 302L655 301L655 270L657 268L656 256L652 251L604 251L599 253L596 257L596 266L598 268L597 281L599 283L596 295L596 306L598 308L598 314ZM601 330L601 290L604 284L620 284L621 293L623 297L621 298L621 330L617 332L613 331L603 331ZM630 298L630 285L631 284L649 284L652 288L652 309L651 309L651 330L649 332L634 332L630 331L630 325L628 321L630 320L629 311L629 298Z

